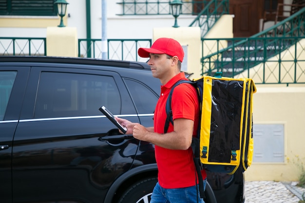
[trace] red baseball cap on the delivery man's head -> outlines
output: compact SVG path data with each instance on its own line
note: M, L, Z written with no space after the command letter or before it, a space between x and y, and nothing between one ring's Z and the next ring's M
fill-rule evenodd
M149 54L167 54L178 56L179 61L183 61L184 52L180 43L172 38L158 38L153 42L151 48L139 48L138 55L143 58L150 57Z

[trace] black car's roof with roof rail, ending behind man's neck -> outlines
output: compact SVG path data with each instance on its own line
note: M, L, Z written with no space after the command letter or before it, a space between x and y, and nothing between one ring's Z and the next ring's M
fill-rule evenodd
M115 71L122 77L146 84L158 95L160 92L160 80L152 76L150 66L144 62L59 56L0 56L0 66L62 67L62 64L65 64L65 68Z

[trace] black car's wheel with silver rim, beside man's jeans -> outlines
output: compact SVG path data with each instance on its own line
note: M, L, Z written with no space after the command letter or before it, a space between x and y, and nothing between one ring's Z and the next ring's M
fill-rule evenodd
M157 181L157 178L148 178L133 184L123 193L118 203L149 203Z

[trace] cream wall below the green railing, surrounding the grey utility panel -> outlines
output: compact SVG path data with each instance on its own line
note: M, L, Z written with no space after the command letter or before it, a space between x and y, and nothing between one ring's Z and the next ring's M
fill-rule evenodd
M256 88L253 124L284 124L285 163L252 163L245 171L246 180L297 181L301 173L298 158L303 166L305 160L305 87ZM255 134L253 138L255 146Z

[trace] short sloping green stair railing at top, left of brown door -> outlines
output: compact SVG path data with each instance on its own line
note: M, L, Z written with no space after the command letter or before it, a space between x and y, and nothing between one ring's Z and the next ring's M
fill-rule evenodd
M229 14L229 0L207 1L204 4L204 9L191 22L190 27L200 27L201 38L204 38L217 20L224 14Z

